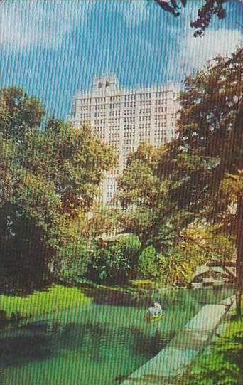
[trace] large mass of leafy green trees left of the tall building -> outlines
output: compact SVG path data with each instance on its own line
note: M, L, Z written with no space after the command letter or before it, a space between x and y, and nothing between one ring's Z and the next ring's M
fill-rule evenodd
M90 212L103 174L114 166L116 156L88 126L76 129L52 119L40 130L40 105L21 90L4 90L2 95L6 119L0 132L1 273L6 273L6 288L29 290L35 287L37 277L31 271L38 263L43 278L57 277L66 251L80 250L80 239L90 234L95 221ZM99 231L97 223L95 233ZM20 265L22 273L14 268ZM17 275L22 277L18 285Z

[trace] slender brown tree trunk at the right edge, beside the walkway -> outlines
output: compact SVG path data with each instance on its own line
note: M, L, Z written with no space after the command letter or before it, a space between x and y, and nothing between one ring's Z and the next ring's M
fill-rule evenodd
M239 191L237 199L236 214L236 230L237 230L237 263L236 263L236 309L237 317L242 316L242 288L243 288L243 193Z

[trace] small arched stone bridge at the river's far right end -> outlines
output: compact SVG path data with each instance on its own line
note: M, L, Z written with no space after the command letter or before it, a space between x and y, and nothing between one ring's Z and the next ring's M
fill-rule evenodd
M202 282L217 281L215 276L225 281L234 281L236 278L236 263L233 262L208 262L197 267L191 283L202 279Z

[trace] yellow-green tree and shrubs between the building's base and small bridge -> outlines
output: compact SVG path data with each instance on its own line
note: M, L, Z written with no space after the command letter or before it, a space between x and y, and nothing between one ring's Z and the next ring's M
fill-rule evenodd
M175 159L168 157L169 148L141 144L129 156L119 179L120 220L126 232L141 239L139 275L185 285L198 264L232 260L235 249L231 239L215 233L215 226L172 199L171 189L180 181L173 180Z

